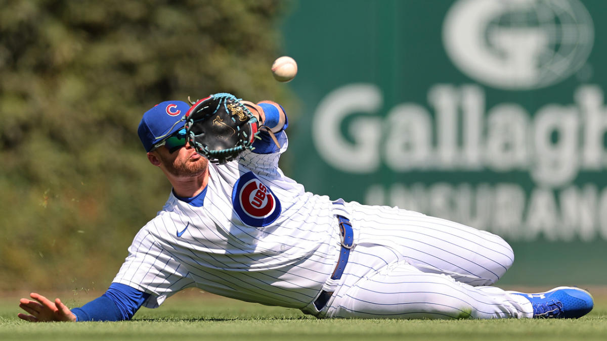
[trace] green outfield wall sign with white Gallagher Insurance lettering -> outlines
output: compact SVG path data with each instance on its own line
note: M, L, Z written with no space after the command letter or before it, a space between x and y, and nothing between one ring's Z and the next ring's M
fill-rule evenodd
M557 264L607 283L604 13L580 0L296 2L283 25L301 101L291 175L499 234L517 252L511 283L557 280Z

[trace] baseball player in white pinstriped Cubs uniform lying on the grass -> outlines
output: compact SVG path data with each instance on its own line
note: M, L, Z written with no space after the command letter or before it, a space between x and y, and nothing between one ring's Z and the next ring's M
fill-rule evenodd
M69 309L32 293L19 317L128 320L192 287L319 318L578 318L594 306L574 287L524 294L492 286L514 260L497 235L306 192L278 167L288 146L283 108L246 105L269 129L253 150L223 164L188 142L187 103L165 101L144 113L138 134L172 184L166 204L135 236L101 297Z

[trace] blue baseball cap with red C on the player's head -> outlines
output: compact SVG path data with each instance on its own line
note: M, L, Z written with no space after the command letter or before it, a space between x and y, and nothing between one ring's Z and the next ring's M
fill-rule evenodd
M189 108L188 103L182 101L165 101L143 114L137 133L146 152L185 126L185 115Z

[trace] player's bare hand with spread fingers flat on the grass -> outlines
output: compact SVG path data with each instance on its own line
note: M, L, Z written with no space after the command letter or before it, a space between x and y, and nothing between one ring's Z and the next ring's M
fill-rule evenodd
M76 316L72 314L66 305L61 303L61 300L55 299L55 302L52 302L46 297L36 294L36 292L32 292L30 297L35 299L35 301L29 299L19 300L19 308L30 314L18 314L19 319L29 322L76 321Z

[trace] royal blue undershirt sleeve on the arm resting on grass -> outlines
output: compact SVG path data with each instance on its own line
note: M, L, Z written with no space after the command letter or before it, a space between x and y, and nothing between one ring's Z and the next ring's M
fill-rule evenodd
M112 283L105 294L81 308L73 308L76 321L130 320L150 294L131 286Z

